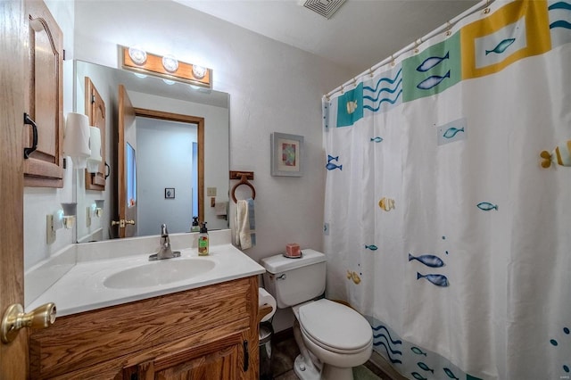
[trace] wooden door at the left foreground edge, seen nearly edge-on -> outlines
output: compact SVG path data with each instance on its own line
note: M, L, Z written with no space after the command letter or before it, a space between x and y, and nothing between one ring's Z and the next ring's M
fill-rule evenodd
M0 1L0 316L12 303L24 304L23 113L24 10L21 1ZM0 378L28 376L25 332L0 343Z

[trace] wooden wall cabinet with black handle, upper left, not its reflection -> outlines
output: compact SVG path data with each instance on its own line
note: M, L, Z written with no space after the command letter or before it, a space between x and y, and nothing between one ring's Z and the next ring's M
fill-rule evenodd
M24 186L62 187L62 29L44 2L26 0L24 7L29 48L24 112L32 121L22 127L23 147L31 148L37 141L36 149L24 160ZM22 119L25 119L23 115ZM37 128L32 128L32 123Z

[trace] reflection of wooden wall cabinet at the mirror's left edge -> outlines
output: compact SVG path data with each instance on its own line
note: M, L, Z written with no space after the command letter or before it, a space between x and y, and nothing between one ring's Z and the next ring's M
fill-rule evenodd
M101 131L101 157L96 173L86 169L86 190L105 190L105 102L90 78L86 77L86 115L89 125Z

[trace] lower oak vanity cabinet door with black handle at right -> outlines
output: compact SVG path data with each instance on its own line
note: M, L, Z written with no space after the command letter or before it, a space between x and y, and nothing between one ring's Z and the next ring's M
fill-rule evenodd
M248 335L246 332L245 335ZM243 334L164 354L137 366L125 368L127 380L237 380L248 366L248 342Z

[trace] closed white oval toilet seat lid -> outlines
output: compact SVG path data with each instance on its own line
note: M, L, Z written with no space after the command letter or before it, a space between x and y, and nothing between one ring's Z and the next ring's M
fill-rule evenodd
M321 299L296 311L302 333L327 351L351 354L367 349L373 340L367 320L341 303Z

